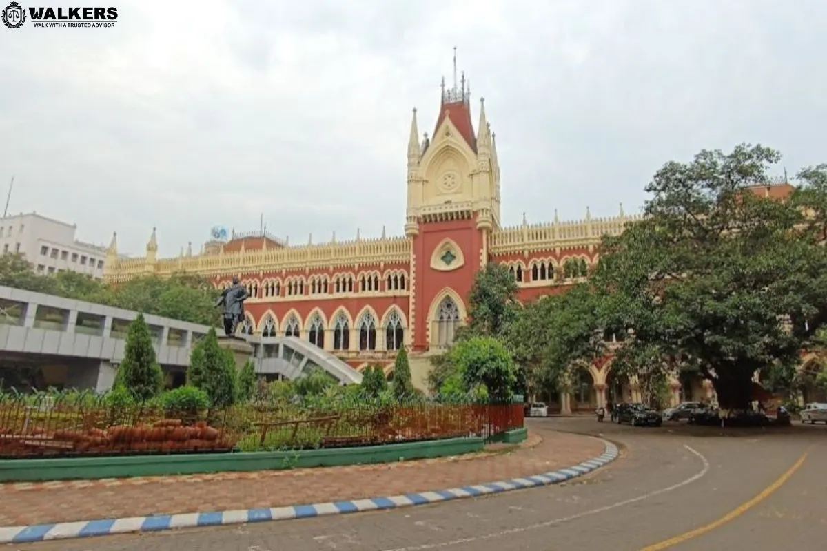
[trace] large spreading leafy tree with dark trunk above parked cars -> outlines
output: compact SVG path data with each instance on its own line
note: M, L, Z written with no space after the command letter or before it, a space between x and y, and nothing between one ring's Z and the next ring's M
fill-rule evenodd
M619 364L697 368L735 409L751 401L754 373L799 360L827 321L827 254L801 202L827 200L815 185L792 201L756 192L779 159L739 145L655 174L646 219L605 239L595 274L604 323L633 330Z

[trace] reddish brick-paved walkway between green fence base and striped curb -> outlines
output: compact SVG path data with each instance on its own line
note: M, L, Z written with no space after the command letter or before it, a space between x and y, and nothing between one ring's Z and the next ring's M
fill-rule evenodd
M258 473L0 485L0 526L230 511L428 492L564 468L603 453L585 436L543 430L509 451L404 463ZM500 448L502 446L499 446Z

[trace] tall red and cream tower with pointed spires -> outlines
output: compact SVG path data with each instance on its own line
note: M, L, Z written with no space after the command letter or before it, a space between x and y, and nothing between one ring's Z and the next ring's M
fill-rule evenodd
M431 137L419 139L416 109L411 121L405 234L413 245L410 325L416 351L450 344L446 316L466 320L468 292L488 261L490 232L500 226L500 166L485 99L475 132L465 75L454 81L451 89L442 81Z

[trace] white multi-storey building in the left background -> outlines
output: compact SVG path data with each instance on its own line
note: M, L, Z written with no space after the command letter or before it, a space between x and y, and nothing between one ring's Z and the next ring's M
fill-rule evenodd
M75 239L77 229L36 212L6 216L0 218L0 251L22 254L36 273L69 271L102 279L107 247Z

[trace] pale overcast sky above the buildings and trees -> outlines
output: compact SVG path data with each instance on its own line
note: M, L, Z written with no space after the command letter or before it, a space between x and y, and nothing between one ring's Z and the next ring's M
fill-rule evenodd
M291 244L401 235L411 108L433 132L454 45L507 226L636 211L703 148L827 162L821 0L110 3L111 29L0 26L0 189L122 253L261 213Z

